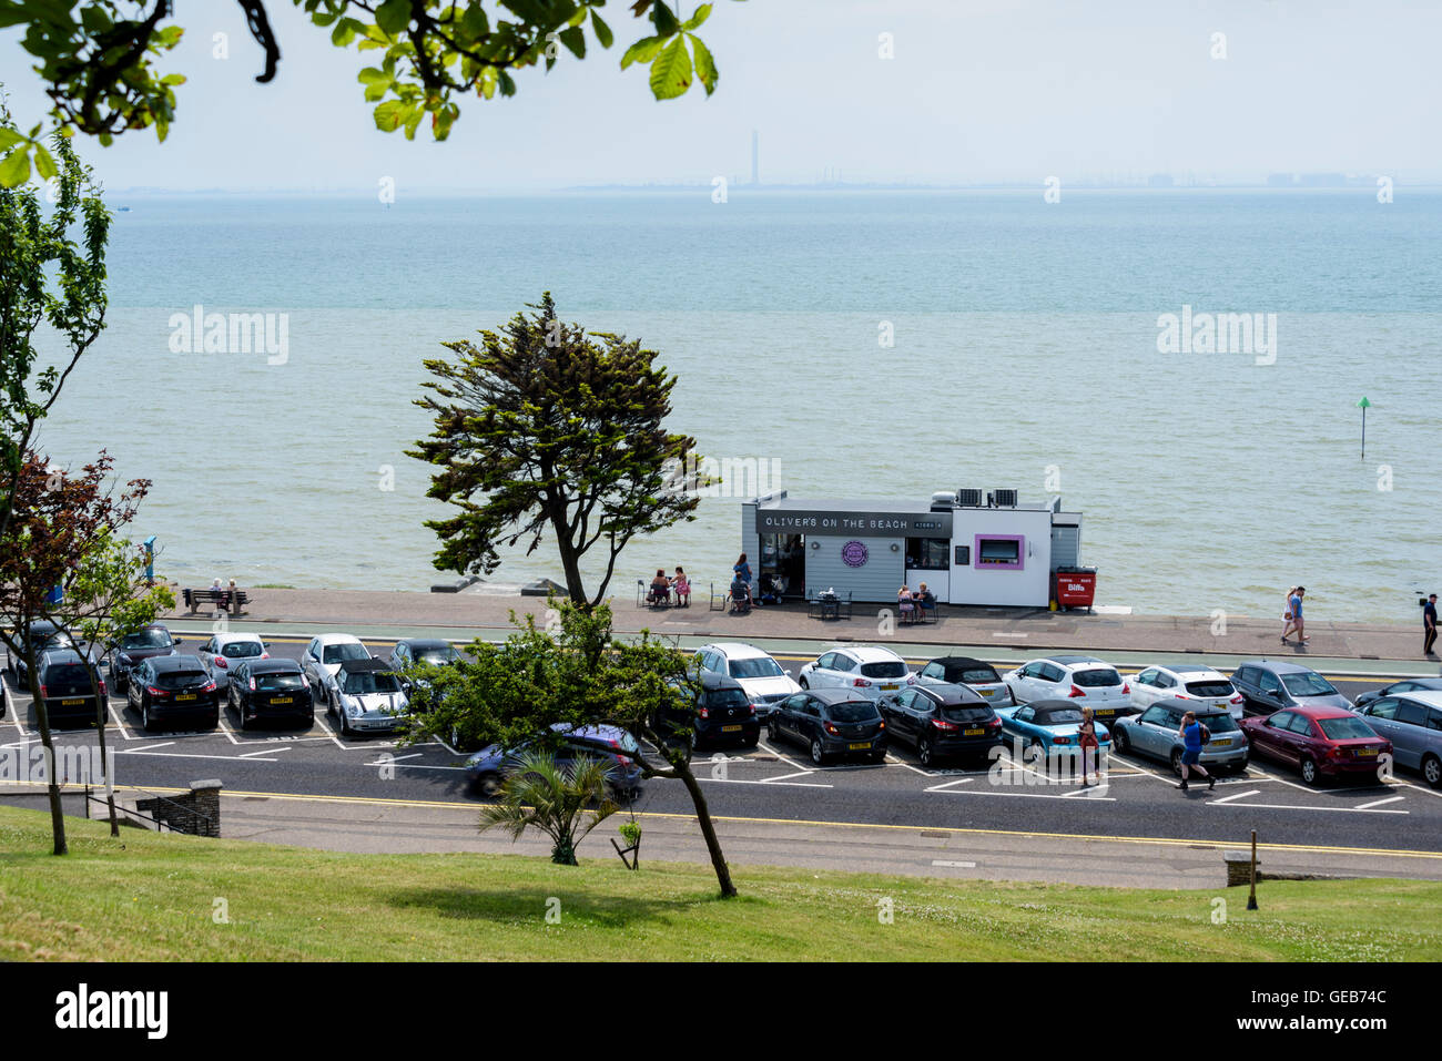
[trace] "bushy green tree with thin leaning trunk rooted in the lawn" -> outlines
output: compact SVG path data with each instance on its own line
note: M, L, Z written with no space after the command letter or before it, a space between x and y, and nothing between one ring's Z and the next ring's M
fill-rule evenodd
M480 744L545 750L559 740L555 725L622 727L636 738L627 754L643 777L685 786L721 895L735 895L705 793L691 771L698 678L673 644L645 631L633 642L616 640L609 607L552 604L555 621L547 627L534 616L512 614L518 629L503 643L476 640L456 663L411 667L405 741L460 732Z

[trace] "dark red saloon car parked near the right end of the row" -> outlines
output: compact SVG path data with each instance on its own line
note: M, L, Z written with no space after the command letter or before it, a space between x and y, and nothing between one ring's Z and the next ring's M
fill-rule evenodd
M1243 718L1252 754L1286 763L1317 784L1322 777L1376 774L1392 741L1377 737L1360 715L1345 708L1283 708Z

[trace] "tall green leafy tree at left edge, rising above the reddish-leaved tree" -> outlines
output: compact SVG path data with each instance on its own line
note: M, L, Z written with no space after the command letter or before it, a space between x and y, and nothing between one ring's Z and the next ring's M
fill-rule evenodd
M14 128L0 101L0 140L7 131ZM110 212L69 141L55 137L52 146L59 163L49 210L33 187L0 189L0 541L36 427L105 329ZM66 343L61 359L43 368L35 349L40 324Z

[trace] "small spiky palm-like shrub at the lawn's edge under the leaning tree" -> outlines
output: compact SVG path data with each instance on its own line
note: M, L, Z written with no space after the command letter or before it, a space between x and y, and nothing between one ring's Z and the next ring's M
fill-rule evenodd
M559 767L548 753L526 753L500 786L500 802L482 809L480 827L505 829L512 840L528 829L551 838L551 861L574 866L575 845L614 814L606 773L610 767L581 755Z

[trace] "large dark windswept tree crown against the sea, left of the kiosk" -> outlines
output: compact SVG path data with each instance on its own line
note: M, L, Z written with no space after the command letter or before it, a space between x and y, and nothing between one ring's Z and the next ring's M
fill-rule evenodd
M549 291L531 308L480 346L443 343L457 362L427 359L435 396L417 405L435 431L410 456L441 469L428 494L461 509L425 523L443 542L437 568L489 575L497 546L535 552L549 530L571 601L596 607L632 538L695 519L696 493L675 489L695 440L662 427L676 378L655 350L562 324ZM606 568L591 597L581 559L596 545Z

